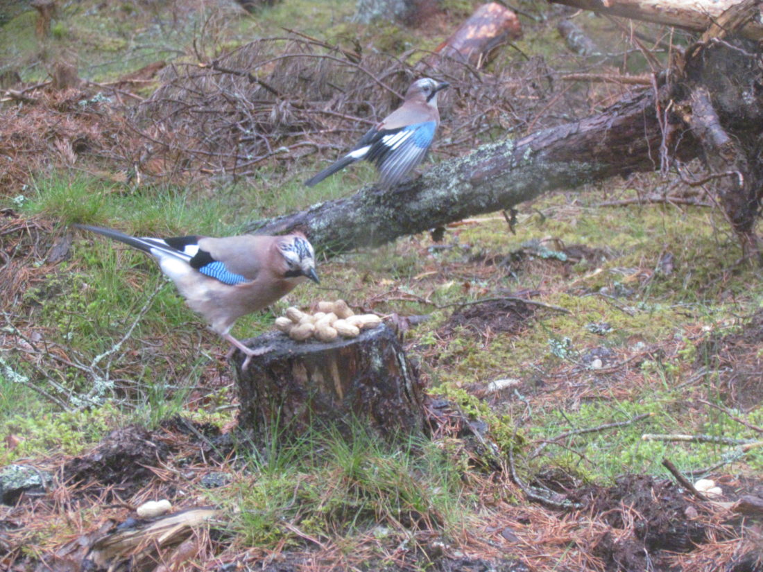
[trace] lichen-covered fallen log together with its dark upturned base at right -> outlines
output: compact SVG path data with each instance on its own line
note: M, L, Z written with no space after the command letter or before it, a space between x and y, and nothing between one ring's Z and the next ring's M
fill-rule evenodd
M757 14L758 4L745 0L720 14L713 29L685 50L682 68L655 77L652 88L601 114L481 146L391 191L365 187L351 197L247 228L301 230L324 252L343 252L510 209L556 188L571 190L639 171L667 173L677 163L700 158L709 174L686 182L711 182L707 188L719 198L745 258L757 258L754 227L763 200L761 47L735 32Z

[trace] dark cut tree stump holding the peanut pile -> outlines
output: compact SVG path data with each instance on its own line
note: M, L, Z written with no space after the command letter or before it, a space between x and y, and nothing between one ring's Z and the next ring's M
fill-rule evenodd
M357 420L385 439L423 427L423 390L397 336L385 325L356 338L295 342L283 333L247 340L270 347L241 371L233 355L241 409L239 426L265 436L277 429L285 439L311 427L336 426L349 439Z

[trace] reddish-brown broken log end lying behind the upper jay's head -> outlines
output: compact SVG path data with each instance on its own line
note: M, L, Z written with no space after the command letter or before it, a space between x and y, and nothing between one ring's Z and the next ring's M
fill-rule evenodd
M522 27L517 14L497 2L488 2L477 8L434 51L479 68L490 62L498 47L521 37ZM428 56L425 60L431 65L436 56Z

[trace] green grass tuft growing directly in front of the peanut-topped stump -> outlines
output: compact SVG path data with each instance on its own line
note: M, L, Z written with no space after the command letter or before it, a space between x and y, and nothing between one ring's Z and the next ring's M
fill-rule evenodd
M463 522L467 497L456 466L430 442L390 446L358 425L349 441L326 429L291 443L275 435L225 502L240 509L246 545L294 545L301 533L349 546L419 527L447 535Z

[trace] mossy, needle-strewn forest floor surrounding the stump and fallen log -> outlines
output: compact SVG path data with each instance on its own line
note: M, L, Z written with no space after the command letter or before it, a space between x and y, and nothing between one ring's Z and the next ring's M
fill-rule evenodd
M518 205L515 220L474 217L321 258L320 287L237 323L234 335L256 336L285 307L336 298L426 316L401 335L427 387L427 435L402 450L362 428L353 442L318 431L250 442L224 343L153 262L69 229L233 234L372 181L358 165L301 185L367 126L302 115L304 101L329 109L331 96L307 64L271 81L271 58L328 61L324 42L362 53L354 69L393 66L398 89L417 73L412 46L433 49L479 3L443 2L419 28L357 24L355 4L283 0L247 15L232 3L85 0L63 5L47 40L32 11L0 24L0 81L21 79L0 84L0 475L31 468L44 484L0 484L0 569L85 570L102 538L145 525L137 506L167 499L173 513L212 516L176 525L169 546L151 538L92 566L763 570L761 270L740 260L709 191L671 173L561 190ZM574 21L610 56L572 56L555 24L573 14L536 4L517 4L523 40L474 85L454 82L432 160L584 117L626 89L565 83L566 72L648 71L620 25L587 14ZM278 92L301 90L302 107L260 114L249 100L267 149L247 151L262 155L246 176L224 169L224 153L199 152L193 121L151 130L140 116L179 85L169 66L156 75L167 62L198 70L231 50L255 54L257 79ZM48 80L62 62L80 77L65 89ZM348 115L394 107L352 89L365 94L346 89ZM478 108L485 98L494 114ZM721 493L693 493L677 474Z

